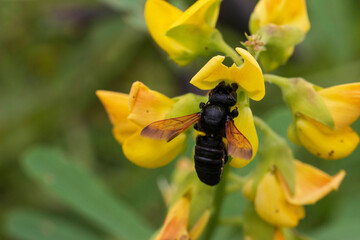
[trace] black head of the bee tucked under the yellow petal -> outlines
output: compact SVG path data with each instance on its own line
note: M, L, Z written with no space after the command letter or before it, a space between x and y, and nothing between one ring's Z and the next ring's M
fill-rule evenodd
M236 83L226 85L225 82L222 81L210 91L209 102L229 107L234 106L236 104L237 89L238 85Z

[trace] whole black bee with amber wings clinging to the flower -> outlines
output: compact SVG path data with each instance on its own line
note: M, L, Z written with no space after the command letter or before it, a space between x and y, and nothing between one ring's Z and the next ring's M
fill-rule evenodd
M237 88L235 83L221 82L210 91L209 100L200 103L200 112L151 123L141 135L169 142L195 123L194 128L204 133L196 137L196 173L203 183L214 186L220 182L228 155L242 159L252 157L250 142L234 125L238 110L230 111L237 101ZM227 140L227 149L223 138Z

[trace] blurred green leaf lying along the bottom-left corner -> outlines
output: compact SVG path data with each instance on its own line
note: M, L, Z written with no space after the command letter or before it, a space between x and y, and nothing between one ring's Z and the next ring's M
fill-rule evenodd
M64 219L31 210L17 210L9 214L6 232L23 240L101 240L92 232Z

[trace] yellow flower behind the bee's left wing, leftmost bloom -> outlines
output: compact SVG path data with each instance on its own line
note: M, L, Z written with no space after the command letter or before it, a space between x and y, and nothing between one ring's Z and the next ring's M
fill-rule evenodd
M99 90L97 96L103 103L113 125L113 134L122 144L124 155L141 167L155 168L166 165L182 150L186 136L178 136L167 143L144 138L141 130L148 124L166 118L174 101L135 82L130 94Z

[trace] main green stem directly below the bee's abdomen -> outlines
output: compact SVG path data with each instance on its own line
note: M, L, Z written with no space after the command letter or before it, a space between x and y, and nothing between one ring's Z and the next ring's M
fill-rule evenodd
M218 186L215 187L216 189L214 194L214 205L213 205L212 216L209 220L209 223L206 227L202 239L210 240L211 237L214 235L214 231L216 227L219 225L220 212L226 195L225 189L226 189L226 183L228 180L229 172L230 172L229 167L225 167L221 182L219 183Z

